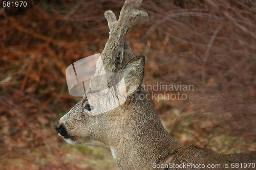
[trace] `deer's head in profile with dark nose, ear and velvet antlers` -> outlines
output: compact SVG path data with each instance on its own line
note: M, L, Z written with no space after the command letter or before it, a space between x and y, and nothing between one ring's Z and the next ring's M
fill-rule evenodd
M110 36L95 74L82 99L55 127L68 143L110 147L114 134L119 133L120 115L139 109L133 108L133 95L140 91L145 59L133 55L124 36L137 21L147 20L147 13L138 10L141 2L126 0L118 20L112 11L104 13Z

